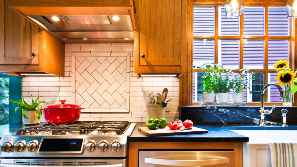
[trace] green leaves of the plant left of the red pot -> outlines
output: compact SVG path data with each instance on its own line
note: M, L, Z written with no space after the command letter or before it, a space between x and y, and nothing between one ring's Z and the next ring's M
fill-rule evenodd
M39 97L43 97L43 96L39 96L39 93L38 93L38 97L33 100L33 96L31 95L31 98L32 98L32 103L31 104L28 104L25 102L24 100L24 97L21 96L22 99L20 101L13 101L13 100L9 100L10 102L13 102L13 103L17 103L17 107L15 108L15 112L18 110L18 109L21 109L22 110L22 116L24 118L27 118L28 117L25 115L27 111L35 111L36 114L37 114L37 119L39 120L40 119L40 116L42 115L42 111L39 110L39 106L40 108L42 108L42 105L40 103L45 103L45 101L41 101L41 102L37 102L37 100L39 99Z

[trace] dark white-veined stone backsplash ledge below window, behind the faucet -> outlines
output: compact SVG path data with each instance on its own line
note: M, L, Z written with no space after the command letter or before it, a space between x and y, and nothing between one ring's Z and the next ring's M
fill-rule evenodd
M270 110L271 106L264 107ZM271 114L265 115L266 125L281 125L281 110L286 108L287 124L297 125L297 107L276 107ZM190 119L194 124L237 124L237 125L257 125L259 124L260 107L180 107L180 119Z

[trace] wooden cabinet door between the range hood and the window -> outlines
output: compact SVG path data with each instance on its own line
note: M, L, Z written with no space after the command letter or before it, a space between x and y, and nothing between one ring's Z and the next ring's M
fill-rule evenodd
M140 66L181 66L181 4L140 0Z

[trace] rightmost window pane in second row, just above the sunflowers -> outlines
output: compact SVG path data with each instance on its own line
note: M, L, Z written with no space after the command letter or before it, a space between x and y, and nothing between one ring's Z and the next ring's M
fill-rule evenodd
M274 69L278 60L288 60L289 40L268 40L268 67Z

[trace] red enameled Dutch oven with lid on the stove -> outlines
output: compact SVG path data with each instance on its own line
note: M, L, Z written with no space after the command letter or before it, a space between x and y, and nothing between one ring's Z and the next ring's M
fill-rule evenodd
M80 117L80 110L84 109L76 104L65 104L66 100L60 100L61 104L47 105L41 108L44 119L51 124L68 124L75 122Z

